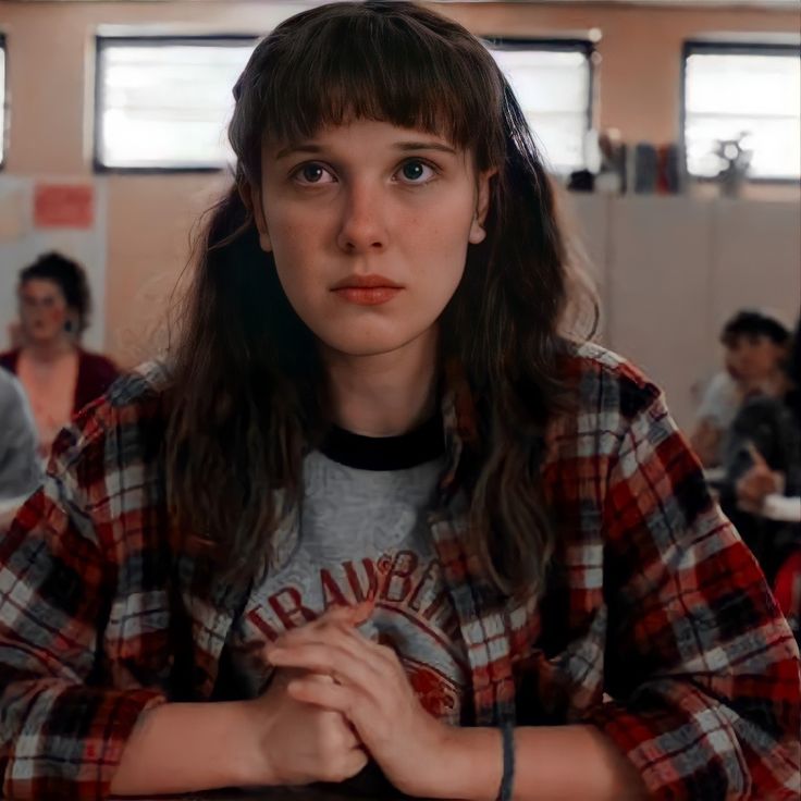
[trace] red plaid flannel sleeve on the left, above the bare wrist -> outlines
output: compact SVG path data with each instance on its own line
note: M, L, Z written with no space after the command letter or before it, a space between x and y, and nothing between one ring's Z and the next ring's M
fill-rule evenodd
M0 541L0 772L13 799L106 798L140 713L163 701L98 681L116 566L86 498L103 491L103 456L101 432L63 432Z

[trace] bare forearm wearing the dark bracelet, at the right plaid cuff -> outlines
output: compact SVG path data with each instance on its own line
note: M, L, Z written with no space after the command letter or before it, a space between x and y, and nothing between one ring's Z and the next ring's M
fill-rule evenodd
M493 801L503 772L501 735L491 728L454 729L453 769L441 798ZM518 727L515 729L516 801L624 801L645 798L633 766L593 726ZM445 766L443 766L445 767Z

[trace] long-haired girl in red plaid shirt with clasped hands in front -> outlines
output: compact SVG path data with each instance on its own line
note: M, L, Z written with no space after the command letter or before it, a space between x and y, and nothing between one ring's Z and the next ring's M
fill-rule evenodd
M560 334L491 56L336 3L235 97L181 342L0 545L7 793L796 798L791 633L660 392Z

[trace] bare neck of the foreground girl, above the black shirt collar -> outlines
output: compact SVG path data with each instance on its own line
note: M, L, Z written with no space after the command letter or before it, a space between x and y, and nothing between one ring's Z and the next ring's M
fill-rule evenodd
M324 350L333 422L366 436L396 436L436 407L436 334L427 332L386 354Z

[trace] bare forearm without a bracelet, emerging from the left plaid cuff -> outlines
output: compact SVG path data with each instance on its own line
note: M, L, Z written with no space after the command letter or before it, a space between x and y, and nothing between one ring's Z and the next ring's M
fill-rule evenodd
M252 743L242 742L245 703L169 703L144 713L125 744L112 794L194 792L247 784Z

